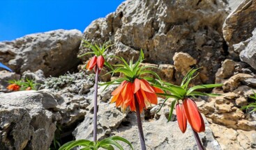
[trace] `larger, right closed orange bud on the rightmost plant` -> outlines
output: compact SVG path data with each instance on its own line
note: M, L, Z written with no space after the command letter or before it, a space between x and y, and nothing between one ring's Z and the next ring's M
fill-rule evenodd
M205 131L205 124L202 115L199 113L197 105L195 101L192 99L186 98L183 101L184 112L186 114L186 118L188 119L188 123L197 133Z

